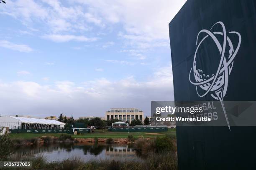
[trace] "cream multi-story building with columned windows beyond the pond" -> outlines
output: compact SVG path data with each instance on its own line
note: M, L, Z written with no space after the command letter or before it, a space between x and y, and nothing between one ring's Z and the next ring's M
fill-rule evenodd
M126 122L132 120L144 120L144 112L138 108L111 108L105 112L105 119L118 119Z

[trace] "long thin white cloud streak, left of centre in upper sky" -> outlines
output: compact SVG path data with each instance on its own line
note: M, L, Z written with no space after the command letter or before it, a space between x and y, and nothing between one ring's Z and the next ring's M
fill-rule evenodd
M52 40L54 42L68 42L68 41L92 42L97 40L96 37L87 38L82 35L51 34L51 35L44 35L42 37L48 40Z

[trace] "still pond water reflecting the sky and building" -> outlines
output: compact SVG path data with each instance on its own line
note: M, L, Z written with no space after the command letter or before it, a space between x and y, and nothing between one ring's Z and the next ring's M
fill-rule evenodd
M58 161L68 158L81 158L84 161L89 160L134 160L141 161L136 155L133 147L127 144L53 144L25 146L15 149L15 157L44 155L49 161Z

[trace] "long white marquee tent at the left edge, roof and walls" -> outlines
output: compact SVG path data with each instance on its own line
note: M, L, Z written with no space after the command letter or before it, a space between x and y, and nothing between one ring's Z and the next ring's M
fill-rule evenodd
M57 120L46 120L31 117L2 116L0 117L0 127L9 127L14 129L15 126L22 126L25 129L47 129L47 128L64 128L65 123Z

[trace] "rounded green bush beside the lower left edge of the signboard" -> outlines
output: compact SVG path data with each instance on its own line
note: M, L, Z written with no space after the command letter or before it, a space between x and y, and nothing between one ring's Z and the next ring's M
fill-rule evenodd
M171 153L175 152L174 142L168 137L156 138L155 145L156 145L156 150L158 152L163 152L163 151L168 151Z

